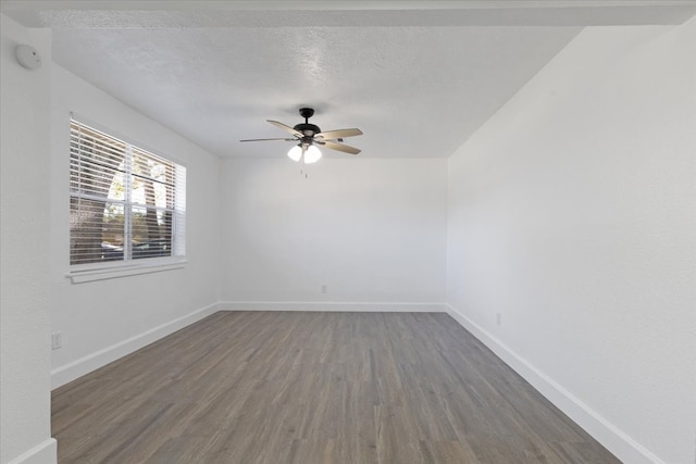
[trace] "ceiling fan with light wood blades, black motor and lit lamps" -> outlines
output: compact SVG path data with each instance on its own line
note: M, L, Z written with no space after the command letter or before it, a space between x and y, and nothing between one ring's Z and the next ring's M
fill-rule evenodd
M341 143L345 137L355 137L362 135L362 130L337 129L322 131L319 126L311 124L309 118L314 115L312 108L300 108L300 116L304 118L303 123L295 125L295 127L286 126L277 121L266 120L269 123L287 131L295 138L271 138L271 139L246 139L239 141L266 141L266 140L285 140L298 142L288 151L287 155L293 161L303 161L304 163L314 163L322 158L321 151L316 146L326 147L332 150L341 151L344 153L358 154L360 150Z

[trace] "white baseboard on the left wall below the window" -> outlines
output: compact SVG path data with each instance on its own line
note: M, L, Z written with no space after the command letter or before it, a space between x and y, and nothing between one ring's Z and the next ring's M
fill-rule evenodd
M185 316L177 317L165 324L138 334L119 343L88 354L79 360L62 365L51 371L51 388L58 388L101 366L104 366L119 358L123 358L142 347L146 347L162 337L179 330L187 325L200 321L219 311L217 303L196 310Z

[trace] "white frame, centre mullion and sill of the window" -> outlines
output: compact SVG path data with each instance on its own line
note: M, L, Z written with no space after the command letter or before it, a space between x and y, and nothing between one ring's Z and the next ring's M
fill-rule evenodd
M129 221L124 221L124 251L123 259L114 260L114 261L99 261L92 263L79 263L79 264L71 264L71 240L69 240L67 246L67 262L69 262L69 272L66 277L69 277L73 284L80 284L85 281L92 280L102 280L117 277L125 277L130 275L139 275L139 274L149 274L161 271L170 271L185 267L187 263L186 259L186 175L187 167L185 164L181 163L178 160L173 156L164 156L160 154L156 150L151 150L148 147L134 142L132 139L127 137L123 137L122 135L111 130L109 128L104 128L100 124L95 124L85 117L80 117L73 113L70 114L69 121L69 139L73 139L73 123L78 126L86 127L89 130L94 130L97 133L101 133L104 136L115 139L119 142L125 145L126 149L124 152L124 162L126 165L130 165L133 163L133 159L135 156L134 152L146 153L148 155L152 155L154 158L162 159L163 161L173 164L175 170L175 179L176 184L173 189L173 204L171 208L172 211L172 224L171 224L171 255L167 256L149 256L149 258L138 258L134 259L133 247L132 244L126 244L130 242L130 237L133 234L133 225ZM72 148L69 149L69 158L70 161L72 158ZM69 168L69 177L71 177L73 170ZM130 170L126 170L124 176L127 178L128 175L133 175ZM127 180L129 188L129 179ZM128 191L127 197L130 197L132 192ZM86 200L90 199L89 193L75 193L73 189L69 189L67 192L69 199L72 201L74 198L83 198ZM94 197L94 196L91 196ZM138 202L134 201L132 198L124 198L124 211L132 210L135 208L141 208ZM110 201L108 197L100 198L100 201ZM70 203L70 202L69 202ZM156 209L160 209L157 206ZM126 216L129 216L132 211L129 211ZM69 239L72 239L72 231L69 226Z

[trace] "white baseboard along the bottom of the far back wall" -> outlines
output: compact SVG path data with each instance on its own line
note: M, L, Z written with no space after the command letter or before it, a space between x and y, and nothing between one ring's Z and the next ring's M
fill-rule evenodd
M444 313L444 303L373 303L322 301L223 301L220 311L330 311L382 313Z

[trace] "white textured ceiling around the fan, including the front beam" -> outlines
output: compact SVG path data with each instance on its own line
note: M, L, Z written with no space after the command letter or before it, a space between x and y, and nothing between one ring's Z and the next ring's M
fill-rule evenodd
M324 130L362 129L346 139L362 156L448 156L584 25L694 14L597 0L86 3L3 13L51 27L57 63L141 113L220 156L253 158L291 143L239 139L284 137L265 120L293 126L304 105Z

